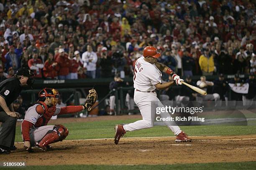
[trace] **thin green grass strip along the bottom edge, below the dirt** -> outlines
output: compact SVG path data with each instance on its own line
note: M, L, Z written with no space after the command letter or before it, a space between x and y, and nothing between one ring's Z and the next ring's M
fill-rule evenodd
M27 166L28 170L254 170L256 162L239 163L197 163L174 165L55 165ZM13 168L8 168L8 170ZM15 168L17 169L17 168ZM20 168L19 168L20 169Z

